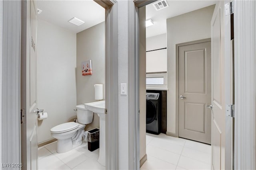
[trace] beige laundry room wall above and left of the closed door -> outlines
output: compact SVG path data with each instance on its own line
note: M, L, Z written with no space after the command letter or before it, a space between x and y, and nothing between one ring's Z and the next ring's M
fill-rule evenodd
M166 20L167 22L167 132L176 134L176 44L211 37L210 22L214 6L208 6Z

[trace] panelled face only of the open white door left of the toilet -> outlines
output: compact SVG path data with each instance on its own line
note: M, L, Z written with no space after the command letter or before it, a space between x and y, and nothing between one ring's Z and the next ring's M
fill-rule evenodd
M27 67L27 76L29 78L29 90L27 98L29 105L27 110L27 152L30 152L30 157L27 157L27 162L30 163L30 169L38 169L38 142L37 142L37 115L34 112L37 107L36 103L36 31L37 31L37 9L35 1L31 1L30 8L30 64ZM28 71L29 69L29 71ZM27 82L28 83L28 82ZM28 168L28 167L27 167Z

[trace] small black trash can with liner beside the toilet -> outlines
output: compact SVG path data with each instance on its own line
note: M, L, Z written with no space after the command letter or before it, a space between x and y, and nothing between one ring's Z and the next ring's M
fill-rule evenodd
M100 147L100 129L95 128L88 131L88 150L91 152Z

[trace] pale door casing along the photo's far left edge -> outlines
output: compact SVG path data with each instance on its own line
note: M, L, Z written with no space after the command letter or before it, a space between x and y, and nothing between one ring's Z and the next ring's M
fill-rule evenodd
M21 1L0 1L0 6L0 163L2 165L22 163L19 142Z

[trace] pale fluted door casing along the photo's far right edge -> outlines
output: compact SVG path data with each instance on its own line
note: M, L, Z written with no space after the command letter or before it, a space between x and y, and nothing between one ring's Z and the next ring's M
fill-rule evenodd
M234 1L234 169L256 169L255 11L255 1Z

